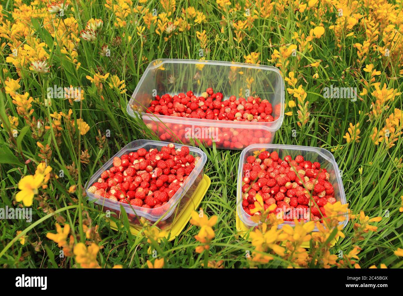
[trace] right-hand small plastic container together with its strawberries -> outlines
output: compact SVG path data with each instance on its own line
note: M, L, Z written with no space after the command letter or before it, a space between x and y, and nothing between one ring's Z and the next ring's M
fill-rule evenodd
M258 208L254 210L258 195L265 210L272 206L271 213L290 225L295 219L322 223L327 203L346 204L332 153L316 147L255 144L245 148L237 187L237 215L244 228L257 225L252 216L261 214ZM345 227L347 221L346 216L340 224ZM316 227L314 230L318 231Z

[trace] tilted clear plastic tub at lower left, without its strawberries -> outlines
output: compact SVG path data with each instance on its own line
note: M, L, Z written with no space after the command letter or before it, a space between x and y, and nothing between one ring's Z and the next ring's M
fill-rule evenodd
M170 226L174 219L174 214L180 213L181 209L185 205L187 205L187 202L190 200L193 192L197 189L197 186L203 179L204 164L206 163L207 155L199 148L189 146L190 154L193 156L199 156L200 160L197 162L195 168L190 173L190 175L186 178L185 182L183 182L181 188L179 188L175 195L165 205L161 207L146 209L143 207L121 203L119 201L113 201L108 198L88 192L88 188L91 187L93 183L97 182L98 178L100 178L101 176L101 173L112 167L114 157L120 157L123 154L130 153L131 151L137 151L140 148L145 148L147 151L151 148L156 148L158 149L158 151L160 151L161 147L168 144L169 143L167 142L150 140L136 140L127 144L111 159L109 159L106 164L104 164L95 174L93 174L87 184L85 184L85 191L87 193L88 199L95 199L95 203L101 205L103 211L109 210L116 213L118 217L120 217L120 206L123 206L129 217L129 221L131 222L131 224L134 225L140 225L139 218L144 217L145 219L148 219L152 222L158 221L157 226L161 229ZM175 149L181 148L182 146L183 145L175 144Z

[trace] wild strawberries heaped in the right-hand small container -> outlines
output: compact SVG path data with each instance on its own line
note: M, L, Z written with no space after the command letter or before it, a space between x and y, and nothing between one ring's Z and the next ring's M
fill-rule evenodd
M257 158L247 157L243 165L242 207L251 215L259 194L264 209L275 203L277 207L271 213L282 213L285 221L321 220L325 217L323 206L336 202L329 178L330 174L320 168L319 162L307 161L302 155L295 159L287 155L282 160L276 151L262 151Z

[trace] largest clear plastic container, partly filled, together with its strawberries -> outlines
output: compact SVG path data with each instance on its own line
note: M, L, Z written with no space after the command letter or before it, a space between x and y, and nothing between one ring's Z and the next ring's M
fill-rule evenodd
M223 149L271 143L284 116L284 83L270 66L157 60L127 106L162 141Z

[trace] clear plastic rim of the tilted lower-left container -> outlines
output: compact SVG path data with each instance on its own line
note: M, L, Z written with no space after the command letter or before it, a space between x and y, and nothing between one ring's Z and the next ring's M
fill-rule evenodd
M135 145L135 142L144 142L143 144L135 147L135 148L130 148L128 146L130 145ZM174 212L174 209L177 207L177 203L179 202L179 198L182 195L185 195L185 193L187 192L187 190L189 190L190 186L195 182L196 177L200 174L200 172L202 171L202 169L204 168L204 164L206 164L207 161L207 155L206 153L204 153L201 149L197 148L197 147L193 147L193 146L189 146L189 145L183 145L183 144L177 144L175 143L175 148L180 148L183 146L187 146L189 147L189 150L195 153L198 153L200 156L200 160L197 162L195 168L193 169L193 171L190 173L190 175L186 178L185 182L182 184L182 186L178 189L178 191L174 194L174 196L168 201L169 204L169 208L168 210L164 211L161 214L158 215L153 215L151 213L147 213L148 212L152 212L152 210L154 209L145 209L143 207L138 207L135 205L129 205L129 204L125 204L125 203L120 203L119 201L111 201L108 198L105 197L101 197L100 195L95 195L93 193L89 193L87 190L88 188L91 186L91 184L95 183L96 180L98 180L98 177L100 176L100 174L104 171L107 170L113 161L114 157L117 156L121 156L123 154L125 154L126 151L129 150L133 150L133 149L140 149L142 147L145 147L146 145L159 145L159 146L165 146L171 144L169 142L163 142L163 141L154 141L154 140L146 140L146 139L138 139L135 141L132 141L130 143L128 143L125 147L123 147L122 149L120 149L118 151L118 153L116 153L115 155L113 155L98 171L96 171L95 173L92 174L91 178L89 178L89 180L87 181L87 183L85 184L85 192L87 193L87 196L89 198L89 200L94 200L95 199L95 203L102 205L104 207L110 207L112 209L115 210L119 210L120 211L120 206L122 205L123 208L125 209L126 213L128 214L134 214L134 215L138 215L140 217L144 217L146 219L149 219L151 221L164 221L165 219L168 219L170 217L170 215L172 215L172 213ZM158 208L156 208L155 210L157 210Z

